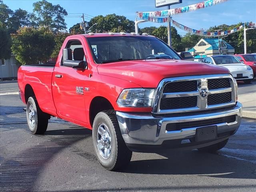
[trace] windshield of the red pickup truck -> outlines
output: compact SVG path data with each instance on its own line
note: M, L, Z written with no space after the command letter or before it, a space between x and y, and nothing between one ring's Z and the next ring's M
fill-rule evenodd
M180 59L162 41L149 36L87 38L96 63L142 59Z

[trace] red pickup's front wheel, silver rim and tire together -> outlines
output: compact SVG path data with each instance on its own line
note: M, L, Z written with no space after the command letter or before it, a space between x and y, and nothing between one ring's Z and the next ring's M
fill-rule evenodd
M107 170L123 168L132 158L132 151L122 138L114 110L96 115L92 126L92 142L98 162Z

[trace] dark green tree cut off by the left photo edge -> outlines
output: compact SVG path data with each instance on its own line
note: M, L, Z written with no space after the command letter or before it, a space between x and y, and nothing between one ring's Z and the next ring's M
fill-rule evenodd
M9 59L11 56L11 37L6 26L0 23L0 59Z

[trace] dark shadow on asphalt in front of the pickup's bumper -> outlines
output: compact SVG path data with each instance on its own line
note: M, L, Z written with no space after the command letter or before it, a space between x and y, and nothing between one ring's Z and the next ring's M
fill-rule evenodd
M135 160L121 172L200 175L215 178L256 178L256 165L197 150L161 153L167 159Z

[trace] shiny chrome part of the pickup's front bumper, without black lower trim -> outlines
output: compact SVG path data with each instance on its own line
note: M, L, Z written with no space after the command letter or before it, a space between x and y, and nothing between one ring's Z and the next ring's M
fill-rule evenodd
M242 104L237 104L228 110L204 113L198 115L176 117L153 117L151 114L131 114L116 112L118 123L126 144L161 145L167 140L183 140L194 138L196 128L186 128L179 131L166 131L166 125L179 122L192 122L209 120L225 116L236 115L236 120L231 123L212 124L217 126L218 134L224 132L236 132L242 118ZM200 126L199 126L200 127Z

